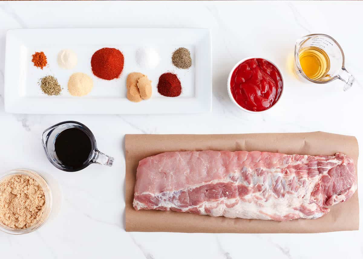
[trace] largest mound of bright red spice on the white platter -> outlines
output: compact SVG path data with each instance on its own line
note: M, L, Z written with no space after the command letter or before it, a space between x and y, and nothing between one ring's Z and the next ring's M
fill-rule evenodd
M99 49L91 58L93 74L105 80L118 78L123 70L123 63L123 54L114 48Z

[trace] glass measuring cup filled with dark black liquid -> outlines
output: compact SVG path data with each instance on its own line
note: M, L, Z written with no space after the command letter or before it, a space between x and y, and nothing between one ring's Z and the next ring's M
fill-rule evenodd
M79 122L61 122L46 129L42 144L50 163L67 172L82 170L93 163L112 166L114 161L98 151L92 132Z

